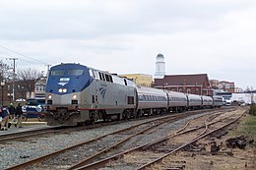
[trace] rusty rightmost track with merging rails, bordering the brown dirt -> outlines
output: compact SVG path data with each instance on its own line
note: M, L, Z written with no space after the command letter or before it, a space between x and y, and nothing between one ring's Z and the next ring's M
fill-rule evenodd
M216 133L217 131L223 130L228 125L237 121L241 116L244 115L244 113L235 119L227 117L227 118L222 118L220 120L213 121L218 116L216 116L215 118L214 117L206 118L204 121L204 126L199 126L194 128L187 129L186 128L188 127L188 124L187 124L185 128L183 127L180 131L177 131L177 133L175 134L165 136L154 142L148 142L143 145L136 146L134 148L131 148L121 153L98 160L91 164L87 164L86 162L85 165L83 165L82 163L80 163L80 165L73 166L69 169L76 169L76 170L98 169L104 166L107 166L107 168L109 169L118 169L123 167L127 167L130 169L138 169L138 170L146 169L153 166L156 163L159 163L163 158L167 157L168 155L182 148L185 148L191 143L197 142L198 140L203 139L213 133ZM200 133L198 132L199 130L201 130ZM186 142L170 144L167 146L164 144L168 142L170 139L173 140L173 138L175 137L186 135L187 133L191 133L191 132L194 132L194 134L199 133L199 135L195 135L195 137L187 140ZM132 160L128 161L128 163L124 163L125 162L123 160L124 157L134 157L134 158L131 158ZM165 168L165 169L168 169L168 168Z

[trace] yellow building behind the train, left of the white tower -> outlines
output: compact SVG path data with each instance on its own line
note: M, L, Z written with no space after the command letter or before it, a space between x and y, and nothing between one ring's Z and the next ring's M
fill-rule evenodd
M130 75L119 75L119 76L132 79L136 85L140 85L140 86L151 86L153 82L152 75L130 74Z

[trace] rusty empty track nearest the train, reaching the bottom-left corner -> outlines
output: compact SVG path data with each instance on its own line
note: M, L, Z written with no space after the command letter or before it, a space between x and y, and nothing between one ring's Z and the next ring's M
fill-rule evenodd
M49 167L50 169L73 169L84 164L91 163L92 161L95 161L99 156L102 156L103 154L109 152L110 150L119 147L125 142L131 140L132 138L138 137L141 134L146 133L147 131L150 131L160 126L164 122L174 122L179 119L183 119L185 117L195 114L199 114L199 112L194 111L191 112L189 115L186 112L181 114L160 117L158 118L158 120L147 121L145 123L127 129L123 129L111 134L107 134L102 137L98 137L88 142L74 144L67 148L57 150L50 154L29 160L27 162L9 167L7 169L47 169ZM101 143L108 144L100 146ZM85 151L85 149L87 149L87 151ZM87 154L85 155L85 153ZM86 161L81 160L84 157L87 157Z

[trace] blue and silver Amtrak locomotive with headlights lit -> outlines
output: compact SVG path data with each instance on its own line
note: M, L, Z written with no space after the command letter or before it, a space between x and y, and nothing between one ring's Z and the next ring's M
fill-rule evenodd
M52 67L45 91L48 125L122 119L136 109L133 81L80 64Z

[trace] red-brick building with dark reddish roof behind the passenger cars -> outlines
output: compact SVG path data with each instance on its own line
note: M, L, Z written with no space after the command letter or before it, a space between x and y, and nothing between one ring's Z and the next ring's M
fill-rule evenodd
M184 93L213 95L207 74L165 75L163 79L155 79L154 86Z

